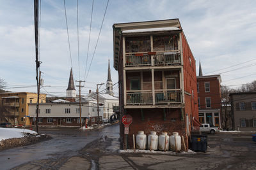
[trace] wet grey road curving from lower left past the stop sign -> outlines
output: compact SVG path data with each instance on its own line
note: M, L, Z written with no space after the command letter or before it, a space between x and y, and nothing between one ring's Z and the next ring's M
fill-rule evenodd
M51 140L35 145L12 148L0 152L1 169L10 169L26 162L41 159L58 159L68 155L77 155L88 143L102 136L118 138L119 125L111 125L94 131L79 131L77 128L40 128L40 133L49 134Z

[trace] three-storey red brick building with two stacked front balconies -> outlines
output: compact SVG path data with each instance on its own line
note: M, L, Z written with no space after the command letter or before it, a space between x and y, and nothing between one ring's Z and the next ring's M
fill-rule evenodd
M197 129L195 58L179 19L113 25L114 67L118 71L120 116L129 114L132 134L179 132L188 145ZM124 125L120 124L124 147Z

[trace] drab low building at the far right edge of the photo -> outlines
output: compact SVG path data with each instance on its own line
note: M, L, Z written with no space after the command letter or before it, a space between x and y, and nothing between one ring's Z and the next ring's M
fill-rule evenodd
M230 93L233 129L256 131L256 92Z

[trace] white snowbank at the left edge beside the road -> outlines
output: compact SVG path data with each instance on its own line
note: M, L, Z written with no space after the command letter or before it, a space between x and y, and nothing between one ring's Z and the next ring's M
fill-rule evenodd
M10 138L22 138L24 136L23 132L24 134L37 134L35 131L30 131L28 129L0 127L0 141Z

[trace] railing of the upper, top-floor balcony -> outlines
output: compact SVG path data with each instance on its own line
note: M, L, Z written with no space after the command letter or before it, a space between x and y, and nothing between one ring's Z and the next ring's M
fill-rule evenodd
M151 62L153 60L153 62ZM144 52L128 53L125 56L125 66L160 66L180 65L180 52Z

